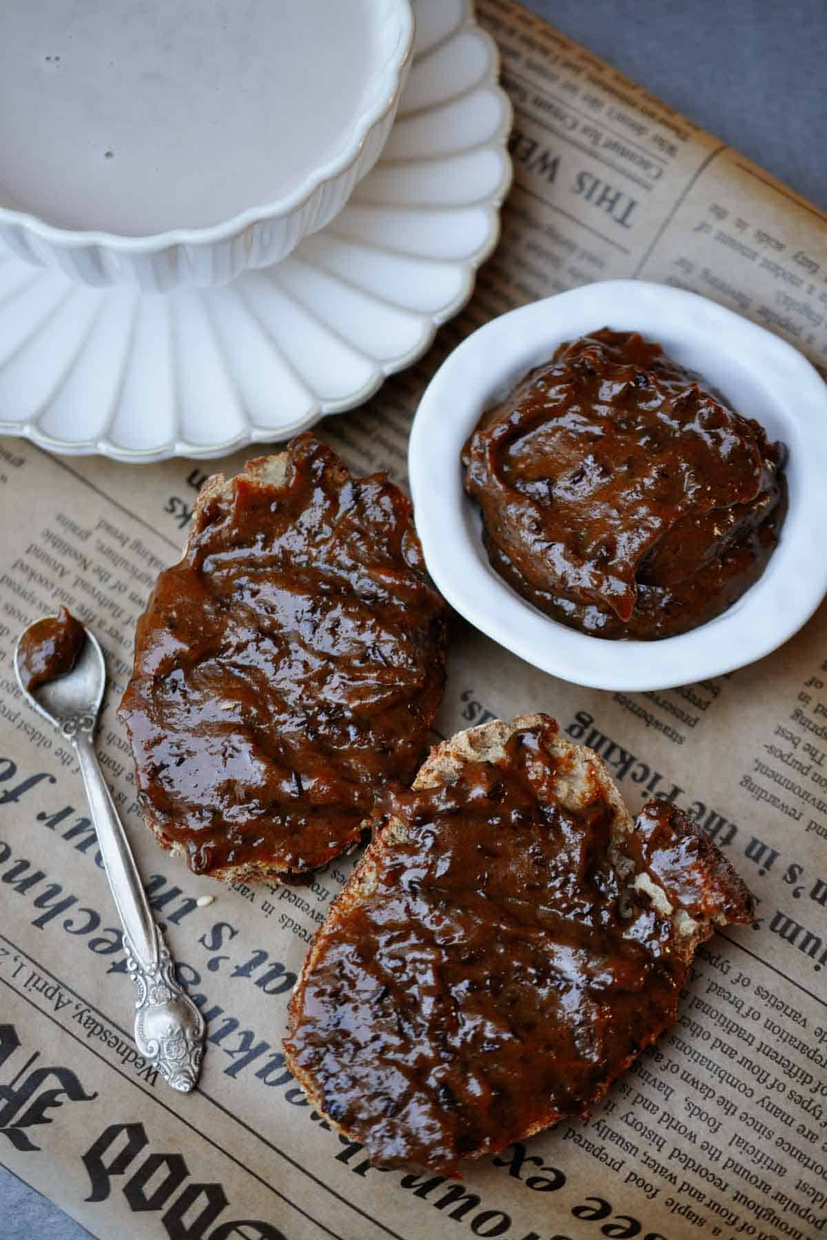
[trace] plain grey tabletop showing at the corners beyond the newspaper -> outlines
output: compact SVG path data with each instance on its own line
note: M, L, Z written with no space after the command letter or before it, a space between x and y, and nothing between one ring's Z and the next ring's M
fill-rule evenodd
M827 207L825 0L528 0L528 7ZM2 1240L89 1236L1 1169L0 1220Z

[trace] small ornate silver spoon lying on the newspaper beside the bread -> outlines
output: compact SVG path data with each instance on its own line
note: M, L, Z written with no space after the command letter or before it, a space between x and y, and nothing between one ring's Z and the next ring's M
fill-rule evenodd
M72 671L30 692L20 675L19 652L22 637L33 627L30 625L15 645L15 676L29 704L74 745L100 856L124 928L126 967L139 992L135 1045L172 1089L187 1092L198 1079L205 1023L175 980L169 947L150 913L126 833L95 756L92 738L107 686L103 651L84 627L86 641Z

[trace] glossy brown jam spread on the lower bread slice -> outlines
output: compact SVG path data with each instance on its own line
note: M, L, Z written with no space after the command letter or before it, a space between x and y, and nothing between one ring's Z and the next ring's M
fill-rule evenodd
M552 802L554 732L521 729L497 763L388 794L376 890L334 905L319 932L285 1045L379 1164L455 1174L462 1157L588 1116L674 1019L710 928L686 936L637 874L692 918L751 913L674 806L651 801L615 848L600 791L578 812Z

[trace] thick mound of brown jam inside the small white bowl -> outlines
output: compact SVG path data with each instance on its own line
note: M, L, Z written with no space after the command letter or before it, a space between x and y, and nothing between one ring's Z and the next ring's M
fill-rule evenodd
M761 575L786 512L784 448L637 332L560 345L467 441L493 568L554 620L653 640Z

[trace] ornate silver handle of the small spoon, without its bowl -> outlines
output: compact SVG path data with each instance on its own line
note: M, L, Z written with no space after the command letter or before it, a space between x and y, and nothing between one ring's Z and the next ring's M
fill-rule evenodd
M92 744L93 720L78 720L71 735L78 755L92 821L112 897L124 928L126 967L139 996L135 1044L172 1089L186 1092L198 1079L205 1024L201 1012L175 980L164 935L150 913L135 859Z

